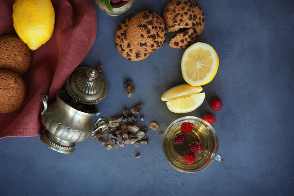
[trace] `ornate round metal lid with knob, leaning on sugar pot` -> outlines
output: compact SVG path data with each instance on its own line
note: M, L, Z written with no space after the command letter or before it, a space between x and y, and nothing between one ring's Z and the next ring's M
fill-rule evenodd
M90 67L78 67L67 78L65 88L72 98L87 105L94 105L104 100L108 94L108 83L98 70Z

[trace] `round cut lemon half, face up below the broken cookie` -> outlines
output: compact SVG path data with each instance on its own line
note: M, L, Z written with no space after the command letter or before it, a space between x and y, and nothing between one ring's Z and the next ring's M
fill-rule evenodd
M192 86L202 86L213 80L219 68L219 57L212 46L197 42L184 52L182 74Z

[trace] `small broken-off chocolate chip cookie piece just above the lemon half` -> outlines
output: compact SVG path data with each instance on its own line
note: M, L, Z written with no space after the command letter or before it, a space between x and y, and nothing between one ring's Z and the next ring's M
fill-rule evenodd
M169 46L176 49L187 48L198 38L195 28L190 28L185 32L176 34L169 43Z

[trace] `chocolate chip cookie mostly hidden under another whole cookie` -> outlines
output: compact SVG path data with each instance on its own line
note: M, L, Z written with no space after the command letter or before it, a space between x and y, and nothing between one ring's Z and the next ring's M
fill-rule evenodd
M115 46L122 56L130 61L141 61L146 59L150 54L146 52L140 52L137 49L134 49L129 43L126 36L126 29L130 18L123 20L123 22L118 25L118 28L115 33Z

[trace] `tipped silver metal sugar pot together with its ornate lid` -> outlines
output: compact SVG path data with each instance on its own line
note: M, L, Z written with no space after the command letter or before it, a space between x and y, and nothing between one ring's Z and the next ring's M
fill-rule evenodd
M66 82L68 93L59 91L56 100L49 106L47 94L40 94L44 104L41 120L46 128L40 139L47 147L71 154L75 143L86 141L99 129L107 129L106 118L98 118L93 125L93 117L100 114L93 104L101 102L108 93L107 81L99 74L88 67L75 69ZM73 98L83 104L87 112L70 106L69 102Z

